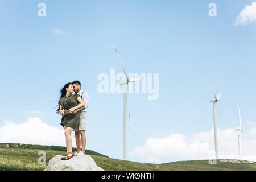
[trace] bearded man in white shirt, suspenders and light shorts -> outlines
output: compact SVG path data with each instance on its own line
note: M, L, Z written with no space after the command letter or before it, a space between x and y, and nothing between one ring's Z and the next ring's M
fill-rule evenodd
M81 107L80 109L76 109L73 113L79 111L80 122L79 126L75 129L75 136L76 136L76 146L77 151L75 155L84 155L85 154L85 145L86 145L86 118L87 118L87 109L89 104L89 94L83 90L81 90L81 83L80 81L73 81L72 82L73 88L75 93L79 94L82 101L84 101L85 106ZM72 113L72 114L73 114ZM81 138L80 138L81 135ZM81 143L82 143L82 150L81 150Z

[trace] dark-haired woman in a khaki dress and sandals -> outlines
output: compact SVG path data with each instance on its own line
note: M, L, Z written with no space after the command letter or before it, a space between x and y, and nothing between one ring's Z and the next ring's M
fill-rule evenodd
M72 131L79 125L79 113L73 113L76 109L83 107L85 104L81 100L79 94L72 94L74 92L73 85L71 83L67 83L64 85L64 88L60 90L61 96L59 100L59 109L57 109L57 113L63 115L61 118L60 125L65 129L65 137L66 137L66 147L68 155L61 158L61 160L69 160L74 154L72 152ZM80 103L77 105L77 101ZM64 113L64 109L68 109L68 113Z

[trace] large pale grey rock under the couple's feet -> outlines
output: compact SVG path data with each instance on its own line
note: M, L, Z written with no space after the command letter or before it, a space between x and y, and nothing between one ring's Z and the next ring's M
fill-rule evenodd
M62 155L56 155L49 160L44 171L104 171L89 155L75 155L69 160L61 160L62 157Z

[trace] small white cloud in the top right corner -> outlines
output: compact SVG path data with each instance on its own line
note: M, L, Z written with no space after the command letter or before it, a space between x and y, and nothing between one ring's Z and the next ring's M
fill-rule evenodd
M237 16L234 26L245 25L256 20L256 1L251 5L246 5L241 13Z

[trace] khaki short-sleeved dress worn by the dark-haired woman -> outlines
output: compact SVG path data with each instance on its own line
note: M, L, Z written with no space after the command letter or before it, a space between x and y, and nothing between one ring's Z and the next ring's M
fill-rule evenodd
M63 109L71 109L72 107L77 106L77 97L80 97L79 94L71 94L68 97L64 96L60 98L59 105L63 107ZM72 127L72 129L75 129L79 126L79 112L76 112L75 114L64 114L61 118L60 125L66 126L66 127Z

